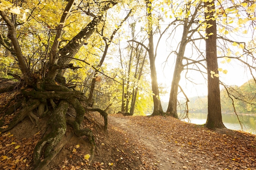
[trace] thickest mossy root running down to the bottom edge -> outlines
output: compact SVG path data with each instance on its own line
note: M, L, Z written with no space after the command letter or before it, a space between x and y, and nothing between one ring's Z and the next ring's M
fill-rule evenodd
M54 158L51 156L54 147L57 146L57 144L61 141L67 129L65 118L67 109L68 103L64 100L61 100L61 102L58 104L58 108L56 108L56 110L54 110L52 113L52 130L50 133L45 135L41 141L38 142L34 149L33 160L36 169L38 169L38 166L42 163L40 163L40 157L42 156L43 152L45 162L44 166L47 166L47 164Z

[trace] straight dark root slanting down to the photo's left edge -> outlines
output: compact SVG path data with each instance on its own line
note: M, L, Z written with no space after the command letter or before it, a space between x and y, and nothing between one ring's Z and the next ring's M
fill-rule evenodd
M14 117L13 121L8 125L8 128L0 128L0 132L6 132L8 130L11 130L16 124L18 124L20 121L22 121L29 112L34 110L38 105L40 104L40 101L38 99L29 99L26 106L24 106L20 112Z

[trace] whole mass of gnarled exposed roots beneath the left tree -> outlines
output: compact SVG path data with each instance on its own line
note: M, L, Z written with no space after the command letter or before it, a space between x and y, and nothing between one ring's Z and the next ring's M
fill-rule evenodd
M86 108L81 105L79 99L83 99L83 96L79 91L70 91L70 89L64 86L57 85L45 85L47 91L22 91L23 95L28 97L29 100L25 101L24 106L19 113L13 118L13 121L7 128L0 128L0 132L5 132L16 126L25 117L29 117L34 125L40 129L39 118L45 117L45 115L52 113L50 121L45 130L45 135L38 141L34 153L33 161L35 170L47 170L48 164L54 159L58 152L63 148L66 142L72 137L73 133L70 133L68 137L65 137L67 124L70 124L74 130L74 134L78 137L88 137L92 144L90 150L90 159L92 161L94 157L94 151L96 144L92 130L85 128L81 129L80 125L85 116L85 110L97 111L104 117L104 129L108 126L108 114L106 111L98 108ZM79 99L78 99L79 98ZM56 102L57 101L57 102ZM59 104L57 104L59 102ZM76 116L66 116L69 103L72 104L76 111ZM37 115L33 112L38 108Z

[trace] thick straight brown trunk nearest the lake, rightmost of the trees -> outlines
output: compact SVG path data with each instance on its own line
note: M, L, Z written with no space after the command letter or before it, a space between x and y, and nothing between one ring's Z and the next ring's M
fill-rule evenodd
M222 122L221 107L220 107L220 82L219 77L214 76L218 74L218 61L217 61L217 31L216 31L216 20L213 16L215 10L214 1L204 2L204 6L207 7L208 11L205 13L205 17L210 15L207 20L206 33L208 38L205 40L206 44L206 63L207 63L207 79L208 79L208 115L205 126L207 128L225 128ZM214 18L214 20L213 20ZM209 35L213 33L213 35Z

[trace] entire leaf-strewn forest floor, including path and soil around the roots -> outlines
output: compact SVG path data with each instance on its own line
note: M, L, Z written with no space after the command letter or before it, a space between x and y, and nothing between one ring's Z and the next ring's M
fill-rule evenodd
M256 170L256 135L209 130L164 116L108 116L88 113L94 132L94 159L84 158L86 139L72 137L49 165L51 170ZM8 121L8 119L6 119ZM90 122L90 123L88 123ZM0 169L33 169L31 155L40 131L29 119L0 134Z

